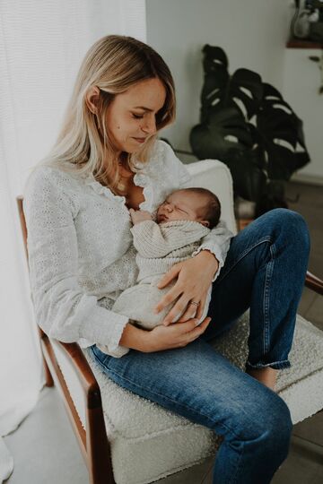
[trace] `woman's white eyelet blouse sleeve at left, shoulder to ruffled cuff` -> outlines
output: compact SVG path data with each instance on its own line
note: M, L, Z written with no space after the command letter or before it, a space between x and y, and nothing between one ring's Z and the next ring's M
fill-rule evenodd
M118 345L128 318L98 305L78 283L75 201L56 183L57 170L37 169L24 195L31 295L37 323L49 337L85 339L126 354Z

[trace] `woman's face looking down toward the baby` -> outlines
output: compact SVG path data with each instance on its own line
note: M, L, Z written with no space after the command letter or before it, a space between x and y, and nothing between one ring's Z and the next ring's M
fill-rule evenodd
M158 78L137 82L113 99L106 129L116 151L134 153L156 133L155 116L165 99L166 90Z

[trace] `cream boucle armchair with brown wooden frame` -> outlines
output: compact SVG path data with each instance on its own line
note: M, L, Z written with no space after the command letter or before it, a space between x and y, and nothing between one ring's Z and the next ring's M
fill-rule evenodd
M204 186L219 196L222 218L236 233L229 169L215 160L197 161L188 169L194 186ZM22 200L18 203L26 240ZM322 281L310 274L307 285L323 294ZM54 379L63 395L91 483L145 484L216 454L220 442L213 431L116 385L102 373L89 350L39 333L47 385L53 385ZM214 348L242 370L248 333L246 313L229 333L214 341ZM292 367L279 373L277 391L296 423L323 408L323 332L301 316L290 358Z

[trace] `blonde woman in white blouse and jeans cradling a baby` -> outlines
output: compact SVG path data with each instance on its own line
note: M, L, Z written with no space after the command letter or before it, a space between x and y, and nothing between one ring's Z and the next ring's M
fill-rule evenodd
M223 435L214 482L266 484L288 453L292 429L272 389L277 370L290 366L309 255L301 216L268 212L234 238L223 224L213 229L194 257L160 281L176 283L156 310L176 304L150 332L110 311L137 275L128 210L153 212L189 182L170 147L156 140L174 116L174 84L161 56L127 37L94 44L57 143L26 189L37 321L51 337L91 346L118 385ZM196 327L212 282L208 317ZM207 341L248 307L244 373ZM111 356L116 349L122 358Z

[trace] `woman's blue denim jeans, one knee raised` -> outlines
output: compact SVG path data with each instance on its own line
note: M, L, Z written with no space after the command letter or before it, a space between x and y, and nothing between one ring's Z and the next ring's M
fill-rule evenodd
M269 483L288 454L292 421L275 392L231 365L208 341L250 308L247 367L289 367L309 251L301 215L267 212L231 240L203 335L184 348L130 350L120 359L92 346L93 358L118 385L223 436L214 484Z

